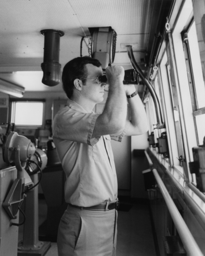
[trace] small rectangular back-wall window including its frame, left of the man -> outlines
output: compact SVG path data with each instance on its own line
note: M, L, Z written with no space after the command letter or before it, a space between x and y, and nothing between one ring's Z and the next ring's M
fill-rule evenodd
M44 101L12 101L11 122L16 126L42 126Z

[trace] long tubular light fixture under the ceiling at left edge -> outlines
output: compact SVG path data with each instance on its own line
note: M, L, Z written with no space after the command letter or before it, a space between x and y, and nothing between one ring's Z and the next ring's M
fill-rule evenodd
M25 92L25 88L23 86L14 84L14 82L10 82L0 78L0 92L6 93L18 98L22 98Z

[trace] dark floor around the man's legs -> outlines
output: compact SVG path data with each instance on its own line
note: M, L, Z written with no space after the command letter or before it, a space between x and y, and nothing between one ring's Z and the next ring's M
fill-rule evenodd
M149 215L149 203L147 201L122 201L120 202L124 207L118 211L116 256L157 256ZM45 200L41 199L39 200L39 226L45 221L46 216L47 205ZM20 238L22 238L22 230L19 232ZM51 247L45 256L57 256L56 242L51 242Z

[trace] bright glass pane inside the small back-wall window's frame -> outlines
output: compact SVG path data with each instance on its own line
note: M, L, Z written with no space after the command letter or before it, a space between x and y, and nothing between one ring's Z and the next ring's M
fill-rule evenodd
M16 102L15 125L42 125L43 102Z

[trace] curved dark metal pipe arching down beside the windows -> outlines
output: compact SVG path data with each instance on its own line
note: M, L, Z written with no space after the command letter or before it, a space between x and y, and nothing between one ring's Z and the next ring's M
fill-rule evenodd
M162 122L162 114L161 114L161 109L160 109L160 102L158 100L157 94L152 86L152 84L150 83L150 81L147 79L147 77L145 77L143 71L141 71L139 65L137 65L136 61L135 61L135 57L133 55L133 51L132 51L132 46L127 46L127 52L128 52L128 56L129 56L129 60L131 61L132 67L135 69L135 71L137 73L139 73L139 76L141 78L141 80L143 80L144 84L147 86L150 94L152 95L153 101L154 101L154 106L156 109L156 115L157 115L157 124L153 125L154 129L162 129L165 128L165 124Z

